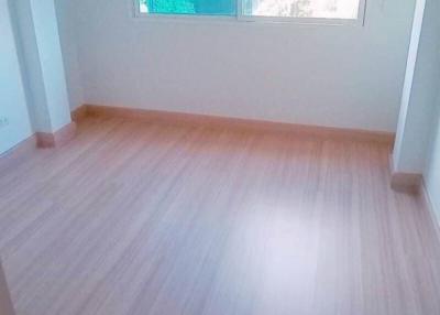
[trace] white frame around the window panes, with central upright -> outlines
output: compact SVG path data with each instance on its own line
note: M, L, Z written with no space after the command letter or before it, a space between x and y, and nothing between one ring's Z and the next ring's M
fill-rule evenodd
M365 24L366 1L359 1L358 19L326 19L326 18L293 18L293 17L256 17L244 15L242 12L243 0L237 0L237 15L202 15L202 14L161 14L141 12L140 0L130 0L133 4L134 17L146 20L175 20L175 21L209 21L209 22L257 22L257 23L294 23L314 25L354 25Z

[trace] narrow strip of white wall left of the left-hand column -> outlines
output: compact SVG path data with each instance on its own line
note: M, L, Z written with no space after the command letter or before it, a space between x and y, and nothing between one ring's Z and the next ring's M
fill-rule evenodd
M7 0L0 0L0 154L32 134Z

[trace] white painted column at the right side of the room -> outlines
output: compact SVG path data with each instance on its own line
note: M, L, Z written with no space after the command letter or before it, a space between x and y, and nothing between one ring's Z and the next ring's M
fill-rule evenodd
M418 0L416 4L393 152L393 173L397 177L421 175L427 161L440 82L439 9L437 0Z

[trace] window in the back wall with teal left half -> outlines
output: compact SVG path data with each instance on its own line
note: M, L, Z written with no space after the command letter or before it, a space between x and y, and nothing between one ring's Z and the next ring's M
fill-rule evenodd
M362 21L365 0L135 0L141 15L223 15L239 20Z

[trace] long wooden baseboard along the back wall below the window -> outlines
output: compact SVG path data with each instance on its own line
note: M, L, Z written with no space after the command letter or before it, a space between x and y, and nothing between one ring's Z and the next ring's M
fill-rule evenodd
M264 120L251 120L240 118L217 117L207 115L194 115L170 111L157 111L145 109L133 109L122 107L85 105L75 110L74 117L79 119L86 116L95 117L118 117L130 120L142 120L147 122L163 122L167 124L191 124L208 128L222 129L246 129L262 132L288 132L301 137L318 137L323 139L350 140L350 141L373 141L393 145L395 134L391 132L339 129L329 127L316 127L274 122Z

